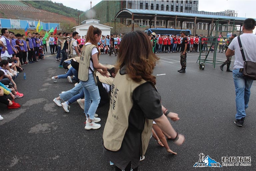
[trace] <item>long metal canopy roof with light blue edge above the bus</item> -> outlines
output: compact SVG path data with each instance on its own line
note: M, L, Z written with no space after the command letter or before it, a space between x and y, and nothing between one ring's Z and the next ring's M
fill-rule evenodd
M176 23L178 21L194 22L194 24L196 23L213 24L217 20L219 20L219 24L227 24L226 20L230 20L230 21L234 21L235 25L242 26L243 21L246 19L241 17L229 17L229 16L221 16L221 15L206 15L206 14L153 11L153 10L136 10L136 9L121 9L116 14L115 21L117 18L132 19L132 31L134 30L134 19L150 20L150 22L154 21L155 23L156 23L156 20L174 21L175 28L176 28ZM221 20L223 20L223 22ZM156 25L155 25L155 28L156 28Z

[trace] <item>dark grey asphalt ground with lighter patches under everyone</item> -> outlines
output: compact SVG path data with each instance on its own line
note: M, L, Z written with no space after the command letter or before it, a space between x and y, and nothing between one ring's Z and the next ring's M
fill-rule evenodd
M168 154L152 138L140 171L187 171L187 170L256 170L255 158L255 111L256 85L251 87L249 108L244 127L234 124L235 88L232 73L213 69L205 64L199 70L196 63L199 53L187 54L186 73L180 69L179 53L157 53L161 58L154 69L156 87L162 103L169 111L179 114L180 120L173 127L184 134L186 141L176 146L168 141L177 155ZM210 54L211 58L213 54ZM217 58L225 61L225 54ZM234 60L234 57L233 57ZM116 57L100 56L102 64L115 64ZM232 67L233 67L232 61ZM102 133L109 106L98 108L102 127L87 131L85 115L78 103L71 104L66 113L53 99L61 91L74 86L67 79L51 80L52 76L64 74L58 68L54 56L24 66L23 73L15 80L18 91L24 97L15 99L19 109L0 106L0 170L2 171L111 171L103 155ZM164 74L164 75L163 75ZM222 165L222 157L251 157L251 166L223 166L221 168L194 168L203 153ZM235 163L237 164L237 162ZM240 165L240 164L239 164Z

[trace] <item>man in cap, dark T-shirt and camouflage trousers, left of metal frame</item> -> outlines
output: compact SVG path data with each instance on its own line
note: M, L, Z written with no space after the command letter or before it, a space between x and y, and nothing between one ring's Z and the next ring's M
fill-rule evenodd
M183 38L182 44L181 44L181 53L180 53L180 64L181 64L181 69L178 70L180 73L185 73L186 72L186 66L187 66L187 44L188 44L188 39L186 38L186 32L181 31L180 36Z

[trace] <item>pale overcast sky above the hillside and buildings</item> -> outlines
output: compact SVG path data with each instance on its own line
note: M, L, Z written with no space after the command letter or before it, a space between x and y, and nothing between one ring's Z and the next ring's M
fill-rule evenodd
M62 3L67 7L86 11L101 0L52 0L53 2ZM220 12L225 10L235 10L238 17L256 18L255 13L256 0L199 0L199 11Z

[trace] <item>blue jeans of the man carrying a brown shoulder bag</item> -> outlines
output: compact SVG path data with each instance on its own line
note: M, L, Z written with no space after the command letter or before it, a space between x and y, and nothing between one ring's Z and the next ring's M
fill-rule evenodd
M233 79L236 91L236 119L241 119L246 116L245 109L248 108L253 80L244 78L239 68L233 69Z

